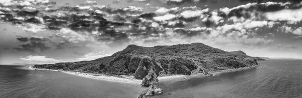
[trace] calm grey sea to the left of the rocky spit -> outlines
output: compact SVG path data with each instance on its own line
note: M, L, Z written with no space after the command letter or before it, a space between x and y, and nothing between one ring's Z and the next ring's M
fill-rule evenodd
M29 66L0 65L0 97L137 97L140 84L91 79Z

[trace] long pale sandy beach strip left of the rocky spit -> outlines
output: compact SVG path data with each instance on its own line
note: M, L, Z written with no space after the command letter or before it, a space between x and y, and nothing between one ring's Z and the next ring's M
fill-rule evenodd
M106 81L114 81L114 82L123 82L123 83L138 83L140 84L142 80L140 79L129 79L129 78L121 78L121 77L115 77L115 76L106 76L105 74L102 75L91 75L89 73L76 73L73 71L59 71L59 70L55 70L55 69L42 69L42 68L33 68L33 66L28 67L31 70L50 70L50 71L58 71L58 72L63 72L63 73L67 73L67 74L72 74L72 75L77 75L77 76L82 76L82 77L87 77L87 78L93 78L93 79L98 79L98 80L106 80Z

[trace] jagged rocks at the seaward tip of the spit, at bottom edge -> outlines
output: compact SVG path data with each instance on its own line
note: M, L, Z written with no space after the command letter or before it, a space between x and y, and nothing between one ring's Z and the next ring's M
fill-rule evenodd
M162 92L163 92L162 88L156 87L155 85L150 85L148 89L142 91L139 94L138 98L146 98L149 97L150 95L154 95Z

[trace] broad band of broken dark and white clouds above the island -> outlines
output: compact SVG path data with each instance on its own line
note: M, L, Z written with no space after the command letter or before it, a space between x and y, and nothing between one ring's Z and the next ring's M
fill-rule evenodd
M147 1L139 3L145 4ZM199 0L162 1L167 4L183 4ZM51 34L57 37L52 38L61 39L61 42L54 43L45 38L36 39L40 41L29 38L29 41L15 48L34 53L53 48L64 49L66 44L83 45L91 41L109 47L121 47L131 43L165 45L195 41L211 44L226 42L244 46L270 44L274 40L269 36L278 36L277 30L290 33L294 30L293 34L299 34L296 26L301 21L300 4L291 2L247 3L218 9L184 6L185 4L167 8L162 4L150 7L110 7L99 5L95 1L86 1L77 6L46 7L43 6L45 4L28 2L32 5L22 6L24 10L14 9L19 1L5 6L0 15L3 16L1 20L16 23L26 31L55 32ZM9 10L7 8L16 11L5 11ZM271 29L269 32L272 33L262 33L267 29Z

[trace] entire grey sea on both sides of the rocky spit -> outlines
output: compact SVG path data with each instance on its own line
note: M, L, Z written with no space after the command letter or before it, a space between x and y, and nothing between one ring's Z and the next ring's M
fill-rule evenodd
M211 77L167 79L154 97L302 97L302 60L265 60ZM0 97L137 97L140 84L97 80L23 65L0 65Z

